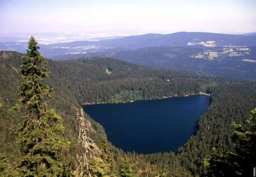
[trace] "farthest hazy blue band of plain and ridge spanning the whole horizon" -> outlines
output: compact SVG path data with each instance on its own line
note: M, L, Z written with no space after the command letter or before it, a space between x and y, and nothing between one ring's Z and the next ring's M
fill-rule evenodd
M54 59L60 58L60 55L84 54L109 49L131 50L148 46L196 46L200 48L218 46L256 46L255 33L235 35L211 32L175 32L172 34L143 34L111 39L97 38L97 40L95 40L41 44L40 52L45 57ZM0 41L0 50L26 52L26 45L24 40Z

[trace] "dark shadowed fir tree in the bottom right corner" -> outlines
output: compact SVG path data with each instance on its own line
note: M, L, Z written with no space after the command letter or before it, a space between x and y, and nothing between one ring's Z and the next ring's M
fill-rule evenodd
M253 176L256 167L256 109L246 120L247 125L232 123L234 152L214 149L205 159L207 176Z

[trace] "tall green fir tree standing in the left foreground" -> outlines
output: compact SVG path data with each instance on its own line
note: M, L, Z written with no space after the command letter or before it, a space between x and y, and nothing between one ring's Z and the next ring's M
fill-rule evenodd
M21 176L63 176L65 167L60 153L68 148L69 142L63 138L62 118L45 102L51 88L44 84L43 79L49 76L49 72L38 49L35 38L31 36L20 72L23 80L19 106L25 114L18 130L22 155L18 169Z

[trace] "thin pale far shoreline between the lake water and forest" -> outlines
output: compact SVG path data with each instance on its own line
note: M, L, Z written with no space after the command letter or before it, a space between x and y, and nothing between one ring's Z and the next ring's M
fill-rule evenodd
M167 98L171 98L171 97L190 97L190 96L199 96L199 95L204 95L204 96L211 96L211 94L206 94L204 92L199 92L199 94L186 94L184 96L163 96L163 97L156 97L154 99L167 99ZM147 100L154 100L154 99L143 99L143 100L136 100L136 101L147 101ZM134 102L132 101L123 101L123 102L118 102L118 103L107 103L107 102L102 102L102 103L82 103L81 105L92 105L92 104L122 104L122 103L132 103Z

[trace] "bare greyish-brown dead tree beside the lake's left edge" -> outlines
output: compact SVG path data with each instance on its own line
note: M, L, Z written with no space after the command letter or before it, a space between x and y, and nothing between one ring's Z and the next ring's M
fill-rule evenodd
M81 147L81 151L77 153L77 164L76 164L76 174L78 176L92 176L88 169L90 160L93 157L99 155L100 149L93 143L93 140L88 137L88 132L93 132L92 123L84 117L83 109L74 108L76 110L77 120L79 122L79 136L77 144Z

